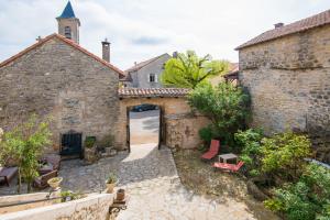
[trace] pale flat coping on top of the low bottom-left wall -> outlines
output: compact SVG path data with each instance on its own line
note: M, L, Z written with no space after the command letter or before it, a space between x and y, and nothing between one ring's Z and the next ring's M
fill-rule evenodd
M28 220L28 219L47 219L55 220L61 217L70 217L75 211L85 207L98 205L106 200L113 201L113 194L94 194L86 198L56 204L53 206L40 207L24 211L0 215L1 220ZM109 204L110 206L111 204Z

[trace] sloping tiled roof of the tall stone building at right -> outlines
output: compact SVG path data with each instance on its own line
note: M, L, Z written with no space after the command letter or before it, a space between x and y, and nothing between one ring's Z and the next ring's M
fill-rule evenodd
M309 16L307 19L302 19L300 21L270 30L250 41L246 43L240 45L235 50L241 50L248 46L252 46L255 44L260 44L266 41L275 40L288 34L294 34L298 32L304 32L314 28L322 26L326 24L330 24L330 10L327 10L324 12L321 12L319 14Z

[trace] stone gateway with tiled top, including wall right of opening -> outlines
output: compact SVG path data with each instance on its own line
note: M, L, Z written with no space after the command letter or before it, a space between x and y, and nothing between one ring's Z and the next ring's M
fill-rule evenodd
M187 89L140 89L124 88L119 90L120 113L117 132L117 145L129 148L128 109L142 103L158 106L162 110L162 144L169 147L193 148L200 144L199 129L209 123L205 117L191 112L187 103Z

